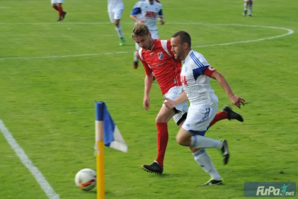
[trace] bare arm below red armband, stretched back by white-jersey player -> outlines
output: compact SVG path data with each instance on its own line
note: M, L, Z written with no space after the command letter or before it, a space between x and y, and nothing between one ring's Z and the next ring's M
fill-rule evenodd
M245 100L238 96L235 96L232 92L232 89L228 85L227 81L225 80L224 76L217 71L214 71L211 75L212 79L218 81L221 87L224 89L225 93L227 94L228 98L231 100L232 104L240 108L241 104L244 105Z

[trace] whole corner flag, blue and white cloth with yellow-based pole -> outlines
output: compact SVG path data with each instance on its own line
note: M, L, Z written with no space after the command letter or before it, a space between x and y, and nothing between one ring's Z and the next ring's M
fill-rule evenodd
M95 151L97 199L104 199L104 145L128 152L128 147L115 125L105 103L95 102Z

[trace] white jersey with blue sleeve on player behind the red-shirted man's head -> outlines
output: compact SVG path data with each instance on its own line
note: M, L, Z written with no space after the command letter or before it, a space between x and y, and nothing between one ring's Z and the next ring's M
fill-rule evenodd
M162 5L158 0L153 0L152 4L149 0L140 0L135 4L131 14L139 20L145 20L150 31L157 30L156 20L162 16Z

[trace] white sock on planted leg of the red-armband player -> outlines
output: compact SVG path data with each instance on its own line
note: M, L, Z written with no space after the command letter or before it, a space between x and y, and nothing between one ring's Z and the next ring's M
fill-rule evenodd
M195 161L202 167L202 169L210 175L214 180L222 180L221 175L214 167L211 158L205 149L201 149L193 153Z

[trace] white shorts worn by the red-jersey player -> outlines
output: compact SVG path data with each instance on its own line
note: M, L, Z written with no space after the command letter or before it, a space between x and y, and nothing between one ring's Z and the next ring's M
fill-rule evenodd
M175 100L181 94L181 92L182 92L182 87L173 87L165 95L163 95L163 97L169 98L171 100ZM162 105L164 106L165 104L163 103ZM175 106L175 108L178 110L178 112L173 116L173 119L176 122L176 124L178 122L181 123L182 121L179 121L179 120L184 120L183 115L188 111L187 101L183 103L179 103L178 105Z

